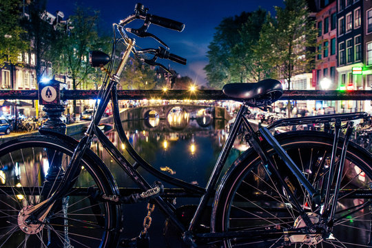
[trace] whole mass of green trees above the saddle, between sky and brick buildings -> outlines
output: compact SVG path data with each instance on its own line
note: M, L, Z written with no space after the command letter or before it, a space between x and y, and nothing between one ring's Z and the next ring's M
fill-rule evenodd
M274 76L287 79L313 67L316 28L305 0L287 0L276 7L277 17L265 10L242 12L223 19L209 44L205 66L212 87L255 82Z

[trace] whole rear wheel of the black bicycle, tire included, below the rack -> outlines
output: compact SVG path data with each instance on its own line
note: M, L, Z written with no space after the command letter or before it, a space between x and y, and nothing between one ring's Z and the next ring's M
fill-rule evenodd
M326 185L327 163L329 163L333 136L324 132L300 131L278 134L276 138L296 165L301 166L301 171L305 172L304 175L313 187L321 189L322 183ZM342 141L338 144L338 154L341 151L340 146L342 146ZM294 192L295 197L300 200L303 209L309 213L318 213L318 207L311 202L307 194L304 194L304 188L298 179L289 176L293 174L280 161L278 155L274 154L267 144L265 144L265 151L273 158L282 175L286 175L286 183ZM349 143L346 159L340 189L370 189L371 154L355 143ZM298 218L299 214L286 199L284 189L278 187L278 182L272 181L273 176L269 174L269 169L262 166L258 154L253 149L242 154L231 165L218 187L211 216L211 231L249 229L263 232L269 229L284 230L295 225L302 227L303 220ZM335 185L334 181L333 185ZM303 242L303 236L276 236L274 238L260 234L261 236L225 240L222 246L284 247L284 238L292 238L289 239L292 241L291 245L286 244L285 247L371 247L371 240L369 240L371 234L369 225L372 221L371 207L368 205L349 216L345 211L353 205L367 204L368 199L349 199L348 195L340 196L338 200L335 216L338 218L338 223L335 223L331 237L321 239L315 245ZM349 211L353 210L349 209ZM315 221L318 216L314 216L312 220ZM297 224L296 219L298 219ZM315 240L314 238L316 237L311 237L311 240Z

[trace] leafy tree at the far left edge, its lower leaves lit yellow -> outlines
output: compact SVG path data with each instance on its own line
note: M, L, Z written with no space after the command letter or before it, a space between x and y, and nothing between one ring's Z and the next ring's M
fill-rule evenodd
M15 64L19 54L28 48L28 41L22 39L25 30L21 28L20 0L0 1L0 67L6 62Z

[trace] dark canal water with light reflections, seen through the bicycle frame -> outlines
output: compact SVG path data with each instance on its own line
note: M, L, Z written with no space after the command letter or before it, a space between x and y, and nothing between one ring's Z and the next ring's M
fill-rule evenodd
M177 110L169 114L165 120L158 119L158 116L150 116L146 120L125 121L123 127L134 149L153 167L188 183L205 187L227 138L229 125L225 120L210 120L205 114L200 118L190 118L182 110ZM116 131L110 130L105 134L129 158ZM91 149L110 168L119 187L137 187L97 140L94 140ZM238 149L232 149L225 170L239 154ZM139 168L138 171L150 184L156 180L144 169ZM165 187L174 187L167 183L163 184ZM176 207L197 205L198 199L176 198L174 203ZM125 205L122 237L138 236L146 214L145 203ZM152 216L153 222L149 229L150 247L165 247L163 238L165 218L158 209Z

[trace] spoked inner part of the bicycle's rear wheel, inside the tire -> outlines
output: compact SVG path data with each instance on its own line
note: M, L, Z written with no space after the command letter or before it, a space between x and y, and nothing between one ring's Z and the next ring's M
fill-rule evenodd
M311 149L314 147L315 149ZM327 149L322 146L327 145ZM304 147L306 149L299 149ZM318 147L318 148L317 148ZM325 183L327 178L327 163L329 162L331 146L327 143L300 143L295 142L287 144L285 147L289 156L298 164L301 171L310 172L304 173L311 180L313 187L319 189ZM300 151L300 152L299 152ZM297 155L296 155L297 154ZM288 168L282 165L278 156L271 156L277 167L284 175L290 175ZM326 166L322 165L322 161L328 161ZM317 167L318 165L318 167ZM310 166L310 167L309 167ZM309 169L311 168L311 169ZM299 214L289 205L288 197L276 183L273 183L273 176L267 176L267 167L264 167L257 159L249 169L242 174L235 175L236 180L233 183L233 189L227 194L227 198L233 199L231 204L226 204L223 211L223 231L237 229L283 229L293 227L294 221ZM270 172L269 172L270 173ZM317 174L317 176L315 176ZM312 175L312 176L311 176ZM311 177L315 176L313 179ZM347 155L344 173L342 174L342 189L369 189L371 183L371 170L365 163L358 161L358 157L352 154ZM242 180L245 178L245 180ZM300 204L308 213L317 213L319 207L315 207L309 196L301 198L304 194L304 189L300 186L296 178L288 176L287 185L294 190ZM334 184L334 183L333 183ZM249 192L249 193L247 193ZM262 196L266 201L254 200ZM228 202L228 200L227 200ZM334 240L322 240L318 245L304 245L303 242L298 242L291 247L364 247L369 242L369 224L371 223L371 214L367 200L364 199L348 199L347 196L340 198L338 202L338 213L335 218L338 222L333 228ZM347 216L348 209L353 206L365 207L360 211ZM355 210L355 209L354 209ZM351 209L350 211L353 211ZM347 216L342 218L342 216ZM246 228L245 228L246 227ZM346 234L345 231L348 233ZM358 237L357 240L348 240L349 236ZM298 236L292 236L295 241ZM258 240L250 240L249 242L238 242L229 240L227 246L239 247L249 245L251 247L280 247L282 246L283 237L275 237L267 242L259 242Z

